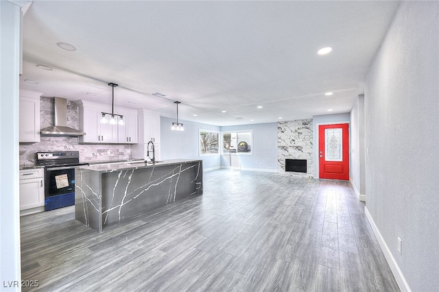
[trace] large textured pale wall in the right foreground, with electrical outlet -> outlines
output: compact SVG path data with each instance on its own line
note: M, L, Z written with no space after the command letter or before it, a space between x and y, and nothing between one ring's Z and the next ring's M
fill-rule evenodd
M366 80L366 207L412 291L439 287L438 93L439 2L403 2Z

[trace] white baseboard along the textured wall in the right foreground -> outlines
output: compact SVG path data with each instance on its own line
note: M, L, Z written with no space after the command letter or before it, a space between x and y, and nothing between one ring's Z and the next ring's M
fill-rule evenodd
M401 271L401 269L399 269L398 263L396 263L392 252L390 252L389 247L385 243L381 232L379 232L379 229L375 224L375 221L373 221L372 215L370 215L370 212L366 206L364 207L364 212L366 213L366 218L370 223L370 227L372 227L373 233L377 237L377 241L379 243L379 246L381 247L381 250L383 251L385 259L389 263L390 269L392 270L393 276L398 283L399 289L401 289L401 292L412 292L412 289L410 289L409 284L404 278L403 272Z

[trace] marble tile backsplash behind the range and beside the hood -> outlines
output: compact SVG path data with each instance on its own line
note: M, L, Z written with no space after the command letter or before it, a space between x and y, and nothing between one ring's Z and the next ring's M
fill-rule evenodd
M40 99L40 128L49 127L54 119L53 98ZM67 100L67 125L79 130L79 108L74 101ZM35 165L36 152L80 151L81 162L118 160L131 158L131 145L80 144L78 137L41 136L39 143L20 143L20 165Z

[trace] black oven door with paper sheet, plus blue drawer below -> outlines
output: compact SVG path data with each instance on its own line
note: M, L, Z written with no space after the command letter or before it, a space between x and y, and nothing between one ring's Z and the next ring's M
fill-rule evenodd
M45 210L75 204L75 169L47 167L45 171Z

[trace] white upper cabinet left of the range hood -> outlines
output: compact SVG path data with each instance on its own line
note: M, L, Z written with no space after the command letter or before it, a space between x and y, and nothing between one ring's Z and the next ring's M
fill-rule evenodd
M40 142L40 96L30 90L20 90L19 142Z

